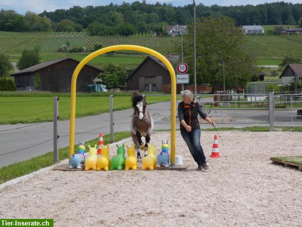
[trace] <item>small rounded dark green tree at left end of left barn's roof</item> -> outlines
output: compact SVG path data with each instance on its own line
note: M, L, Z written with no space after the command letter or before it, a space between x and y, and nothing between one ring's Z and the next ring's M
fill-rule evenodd
M17 63L17 67L18 69L23 70L28 67L39 64L40 60L41 58L38 48L34 48L33 50L23 50L21 58Z

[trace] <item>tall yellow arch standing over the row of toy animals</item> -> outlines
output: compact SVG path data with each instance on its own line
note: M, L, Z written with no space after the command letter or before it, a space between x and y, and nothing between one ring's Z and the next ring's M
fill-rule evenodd
M76 96L76 89L77 89L77 78L81 71L81 69L92 59L96 56L99 56L103 53L107 53L110 51L115 50L136 50L140 52L145 52L150 55L156 56L160 59L168 68L170 76L171 76L171 164L175 164L175 143L176 143L176 76L174 69L171 63L159 52L149 49L143 46L136 46L136 45L115 45L115 46L108 46L102 49L99 49L83 59L77 68L75 68L72 79L71 79L71 94L70 94L70 126L69 126L69 155L68 158L71 157L74 150L74 123L75 123L75 96Z

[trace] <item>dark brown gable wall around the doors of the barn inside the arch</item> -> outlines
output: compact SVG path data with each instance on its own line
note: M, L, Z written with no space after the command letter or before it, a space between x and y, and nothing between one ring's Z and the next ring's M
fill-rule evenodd
M162 76L162 84L170 84L171 78L168 70L165 70L152 59L147 59L143 66L139 67L127 81L127 90L139 90L138 81L140 77ZM162 86L161 86L162 87Z

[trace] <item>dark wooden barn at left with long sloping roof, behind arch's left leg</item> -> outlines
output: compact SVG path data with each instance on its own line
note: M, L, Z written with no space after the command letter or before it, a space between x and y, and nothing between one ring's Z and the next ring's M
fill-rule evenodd
M35 77L40 77L40 90L51 92L70 92L71 77L80 62L71 58L43 62L11 74L15 84L25 88L35 85ZM77 91L85 91L88 84L104 71L85 65L77 79Z

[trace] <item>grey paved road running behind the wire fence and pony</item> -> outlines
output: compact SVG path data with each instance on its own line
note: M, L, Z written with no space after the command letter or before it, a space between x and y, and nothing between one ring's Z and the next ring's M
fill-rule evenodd
M203 101L211 101L212 98L205 98ZM164 107L163 107L164 106ZM162 119L170 116L170 103L161 102L156 104L149 104L148 109L153 115L155 122L155 130L170 129L170 123ZM282 114L288 114L287 111L282 111ZM114 112L114 132L129 131L129 124L131 120L132 109L126 109ZM211 115L226 115L232 114L234 111L211 110ZM243 127L253 125L265 125L267 123L267 110L251 110L249 112L244 110L237 110L237 117L232 124L221 124L217 127ZM249 117L248 115L258 115L258 117ZM235 123L234 123L235 122ZM247 124L248 122L255 122L256 124ZM75 138L74 142L87 141L97 138L99 133L110 133L110 115L109 113L102 113L101 115L79 118L75 120ZM258 123L258 124L257 124ZM266 124L267 125L267 124ZM209 128L210 125L202 125L202 128ZM179 128L179 124L176 124ZM66 147L69 144L69 121L59 121L58 147ZM29 158L44 154L53 150L53 124L52 122L39 124L17 124L17 125L1 125L0 126L0 167L14 162L27 160ZM47 142L45 142L47 141ZM44 142L44 143L43 143ZM41 144L39 144L41 143ZM36 145L39 144L39 145ZM36 145L36 146L34 146ZM6 154L8 153L8 154Z

